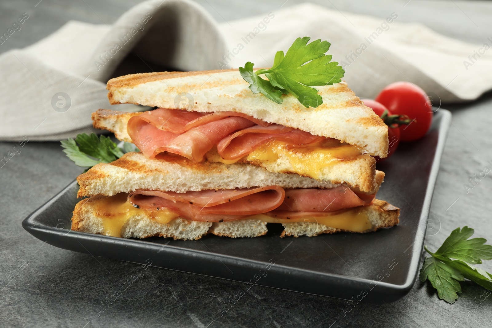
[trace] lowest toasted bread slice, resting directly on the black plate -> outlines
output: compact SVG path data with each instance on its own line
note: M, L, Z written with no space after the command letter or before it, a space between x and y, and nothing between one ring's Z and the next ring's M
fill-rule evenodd
M104 234L103 219L98 215L98 211L92 205L101 197L94 196L83 199L76 206L72 217L72 230L87 232L91 234ZM376 231L381 228L389 228L399 223L398 216L400 209L380 200L375 200L370 206L364 207L371 228L363 233ZM285 236L317 236L319 234L333 234L340 231L318 223L285 223L282 224L284 231L280 237ZM230 222L202 222L189 221L178 217L169 223L162 224L147 216L145 212L130 216L124 222L120 235L123 238L148 238L153 236L196 240L206 234L217 236L238 238L238 237L259 237L267 233L266 222L256 219L243 219ZM347 231L350 232L350 231Z

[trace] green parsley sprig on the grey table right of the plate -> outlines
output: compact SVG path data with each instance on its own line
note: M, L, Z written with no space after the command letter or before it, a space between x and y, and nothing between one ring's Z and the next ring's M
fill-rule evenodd
M448 303L458 299L456 293L461 293L460 281L465 278L492 291L492 274L470 265L491 260L492 245L486 245L487 239L484 238L468 239L473 233L474 230L467 226L461 230L457 228L435 253L424 246L431 257L424 260L420 281L429 280L437 290L437 296Z

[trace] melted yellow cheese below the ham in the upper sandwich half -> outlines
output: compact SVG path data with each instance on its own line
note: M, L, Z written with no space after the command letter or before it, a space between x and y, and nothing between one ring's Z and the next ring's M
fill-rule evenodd
M356 159L362 155L360 149L348 144L289 146L282 142L262 146L247 156L248 161L275 162L279 157L287 157L293 171L299 175L319 179L324 167L334 165L340 160Z

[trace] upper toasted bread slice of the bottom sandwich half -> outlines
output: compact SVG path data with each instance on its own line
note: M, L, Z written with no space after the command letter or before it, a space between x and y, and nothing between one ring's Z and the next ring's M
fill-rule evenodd
M383 182L384 173L376 171L374 194ZM100 163L77 177L78 197L132 192L139 189L160 191L199 191L278 185L282 188L334 188L297 174L271 173L262 167L244 163L194 163L181 156L166 155L148 159L142 153L128 152L112 163Z

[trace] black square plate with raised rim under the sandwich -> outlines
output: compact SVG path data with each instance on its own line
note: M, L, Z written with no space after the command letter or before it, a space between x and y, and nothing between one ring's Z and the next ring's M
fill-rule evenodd
M272 227L256 238L208 235L186 241L92 235L69 230L78 201L76 181L22 225L51 245L93 256L323 296L392 301L415 281L450 122L449 111L436 111L427 136L400 144L394 156L378 164L386 178L377 198L401 209L400 224L391 229L282 239Z

